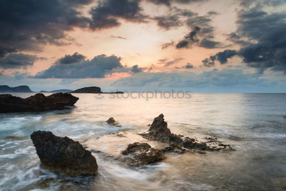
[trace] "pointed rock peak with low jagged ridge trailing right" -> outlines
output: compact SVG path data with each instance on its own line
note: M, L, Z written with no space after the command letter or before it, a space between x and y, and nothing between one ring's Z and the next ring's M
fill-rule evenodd
M198 143L195 139L184 137L184 135L176 135L171 133L170 129L167 127L167 122L164 121L163 114L160 114L158 117L154 118L154 121L148 131L149 133L141 133L139 135L150 140L176 143L188 149L202 149L209 151L222 149L221 147L210 147L206 145L206 143Z

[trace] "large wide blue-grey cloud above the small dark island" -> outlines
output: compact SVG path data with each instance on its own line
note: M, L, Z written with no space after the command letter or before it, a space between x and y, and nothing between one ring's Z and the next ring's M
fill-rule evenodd
M54 64L47 70L38 72L30 78L104 78L105 74L112 69L123 68L121 58L117 56L106 56L104 54L95 56L92 60L83 60L74 64Z

